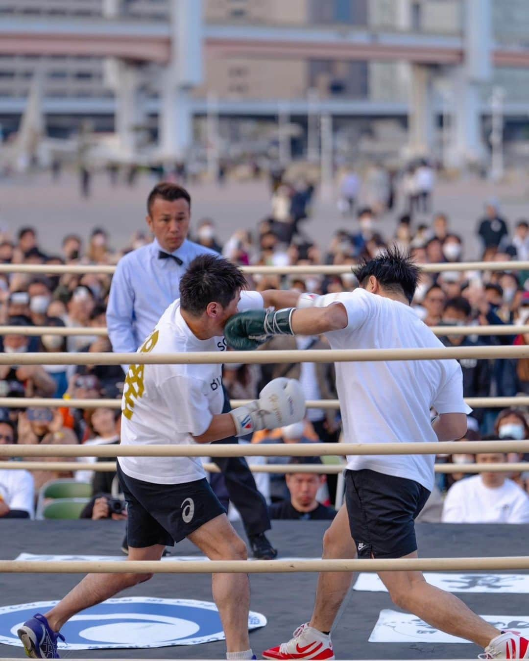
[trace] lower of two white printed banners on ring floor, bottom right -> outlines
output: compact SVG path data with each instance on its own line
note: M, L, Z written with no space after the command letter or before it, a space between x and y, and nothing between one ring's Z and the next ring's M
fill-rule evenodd
M529 636L529 615L480 615L489 624L505 631ZM438 631L411 613L398 613L391 609L380 611L369 642L470 642Z

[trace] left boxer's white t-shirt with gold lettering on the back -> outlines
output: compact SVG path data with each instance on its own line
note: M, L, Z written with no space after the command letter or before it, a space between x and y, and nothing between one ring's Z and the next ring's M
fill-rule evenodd
M259 292L241 292L239 311L262 309ZM171 303L138 349L152 354L225 351L224 337L199 340ZM130 366L122 397L122 445L193 445L222 413L222 365ZM145 482L174 485L205 477L200 457L119 457L122 471Z

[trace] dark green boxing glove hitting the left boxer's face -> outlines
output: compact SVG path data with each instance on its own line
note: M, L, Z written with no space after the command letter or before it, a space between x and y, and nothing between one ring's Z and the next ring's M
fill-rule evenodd
M266 312L248 310L228 319L224 327L227 344L238 351L251 351L273 335L294 335L290 319L296 308Z

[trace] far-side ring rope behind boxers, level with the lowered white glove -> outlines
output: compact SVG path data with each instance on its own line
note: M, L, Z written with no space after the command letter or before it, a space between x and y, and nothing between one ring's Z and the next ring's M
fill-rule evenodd
M231 407L243 407L251 399L232 399ZM466 397L466 403L473 408L508 408L529 405L529 397ZM52 397L0 397L0 407L5 408L121 408L121 399L58 399ZM307 399L306 408L339 409L337 399Z

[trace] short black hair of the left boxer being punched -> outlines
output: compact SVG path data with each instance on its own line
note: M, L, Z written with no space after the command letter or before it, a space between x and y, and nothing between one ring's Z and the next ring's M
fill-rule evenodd
M180 281L180 306L200 317L213 301L227 307L245 286L244 274L235 264L214 254L201 254L192 260Z

